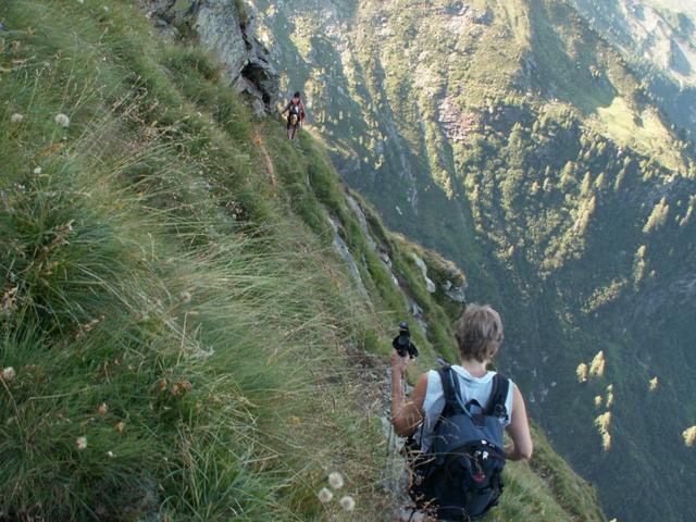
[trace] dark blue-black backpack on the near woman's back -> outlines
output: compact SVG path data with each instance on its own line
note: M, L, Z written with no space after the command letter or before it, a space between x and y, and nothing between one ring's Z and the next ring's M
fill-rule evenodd
M438 373L445 408L428 451L411 452L409 494L417 509L438 520L477 519L497 506L502 493L502 420L508 417L505 401L510 382L496 374L488 406L483 409L475 400L462 405L451 366Z

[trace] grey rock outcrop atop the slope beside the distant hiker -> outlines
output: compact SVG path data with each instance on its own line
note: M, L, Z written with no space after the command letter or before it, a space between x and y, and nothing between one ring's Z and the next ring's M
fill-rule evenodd
M154 25L171 37L192 33L226 65L229 84L252 99L258 113L274 109L279 75L269 50L253 36L254 18L233 0L144 0Z

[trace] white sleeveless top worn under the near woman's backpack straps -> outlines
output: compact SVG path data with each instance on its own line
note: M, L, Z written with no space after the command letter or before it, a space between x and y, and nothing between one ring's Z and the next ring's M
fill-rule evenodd
M493 376L496 372L488 372L483 377L472 376L467 369L453 365L451 366L453 374L459 378L459 389L461 391L462 402L465 405L470 400L476 400L482 408L488 406L490 393L493 391ZM512 419L512 397L514 393L514 383L510 381L508 396L505 400L505 408L508 417L502 419L504 426L510 424ZM420 443L421 449L427 451L433 442L433 430L439 419L439 414L445 408L445 394L443 391L443 383L439 373L435 370L427 372L427 390L425 391L425 400L423 400L423 411L425 419L423 424L415 430L414 438Z

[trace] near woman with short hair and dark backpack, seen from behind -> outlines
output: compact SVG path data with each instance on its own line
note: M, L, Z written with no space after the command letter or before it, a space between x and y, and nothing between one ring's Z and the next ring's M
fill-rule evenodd
M391 424L397 435L409 437L411 517L417 509L440 521L483 517L498 504L506 460L532 456L522 394L487 370L502 343L500 315L470 304L456 337L461 365L424 373L408 399L401 376L409 358L391 353ZM507 446L504 428L512 439Z

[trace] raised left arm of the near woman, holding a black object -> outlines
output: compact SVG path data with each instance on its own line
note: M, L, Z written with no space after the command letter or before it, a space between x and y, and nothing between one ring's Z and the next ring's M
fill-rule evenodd
M423 420L423 401L427 391L427 374L424 373L410 398L403 396L401 374L408 364L408 358L391 353L391 424L397 435L412 435Z

